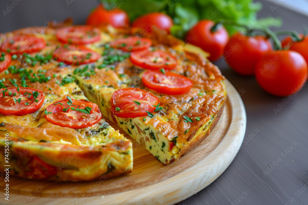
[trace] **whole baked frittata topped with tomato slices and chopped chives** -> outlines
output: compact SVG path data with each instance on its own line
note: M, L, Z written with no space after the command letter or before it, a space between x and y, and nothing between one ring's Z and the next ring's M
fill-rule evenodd
M170 164L209 135L224 108L219 69L162 31L59 24L0 38L0 155L10 153L19 177L131 172L132 142L102 116Z

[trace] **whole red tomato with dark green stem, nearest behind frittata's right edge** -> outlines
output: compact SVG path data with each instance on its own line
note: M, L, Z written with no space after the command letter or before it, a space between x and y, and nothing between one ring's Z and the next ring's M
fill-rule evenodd
M217 27L216 31L211 31L214 25L215 23L212 21L199 21L186 35L188 43L197 45L210 53L210 61L221 57L229 40L229 34L225 27Z

